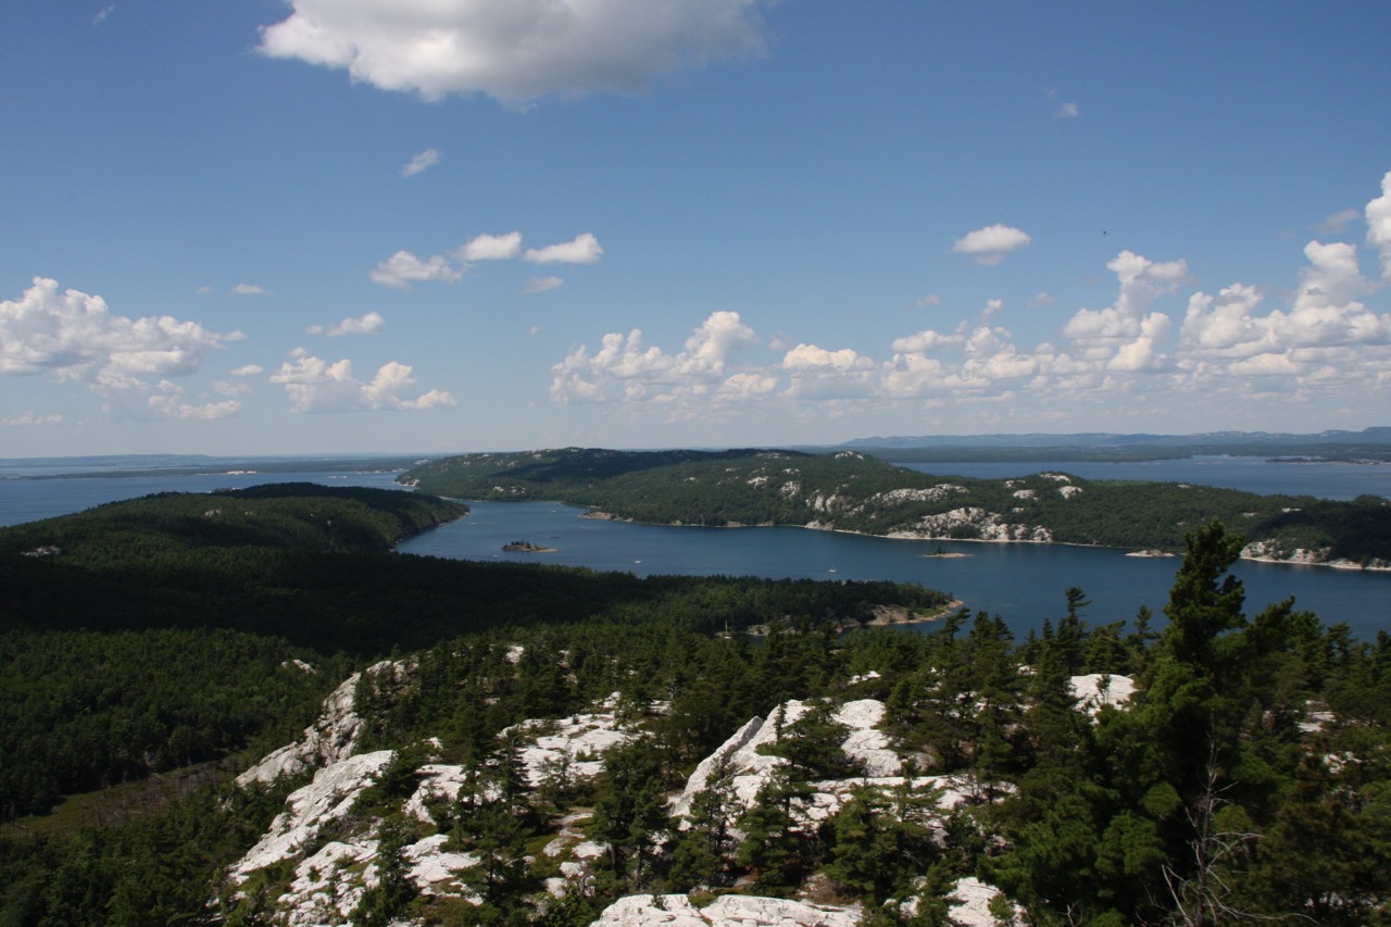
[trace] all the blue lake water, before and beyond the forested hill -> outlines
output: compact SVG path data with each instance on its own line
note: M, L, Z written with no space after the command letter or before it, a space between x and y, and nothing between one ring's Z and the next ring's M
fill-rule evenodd
M990 468L1004 468L993 470ZM1099 469L1097 469L1099 468ZM1312 469L1305 469L1312 468ZM1224 462L1155 461L1146 464L972 464L919 466L929 472L1007 477L1039 470L1066 470L1088 479L1199 480L1245 475L1246 487L1264 491L1352 498L1369 490L1367 475L1391 468L1356 465L1266 464L1249 458ZM1135 476L1136 470L1148 476ZM0 468L3 473L3 468ZM161 491L210 491L262 483L310 482L328 486L396 487L395 473L306 472L220 473L200 476L85 476L64 479L0 479L0 525L14 525L82 511L102 502ZM1294 484L1292 484L1294 482ZM1373 480L1374 482L1374 480ZM1303 489L1296 489L1295 484ZM1232 486L1242 489L1242 486ZM1376 494L1387 494L1383 491ZM1317 491L1316 491L1317 490ZM620 569L638 576L754 575L808 579L890 579L950 592L971 610L1003 617L1021 633L1064 612L1064 590L1079 586L1092 605L1093 624L1131 619L1141 605L1156 615L1167 601L1177 558L1127 557L1124 551L1061 544L981 544L907 541L798 528L664 528L581 518L583 509L552 502L473 502L473 512L451 525L401 544L402 553L463 560L515 560ZM529 540L558 548L547 554L505 553L502 546ZM965 554L936 557L938 550ZM1335 571L1316 566L1237 564L1248 614L1295 597L1301 608L1326 622L1344 621L1363 639L1391 631L1391 573Z

